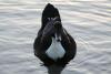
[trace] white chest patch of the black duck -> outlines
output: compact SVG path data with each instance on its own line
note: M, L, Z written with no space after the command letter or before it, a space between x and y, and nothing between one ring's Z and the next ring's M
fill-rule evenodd
M61 43L58 42L54 38L52 38L52 43L50 47L46 51L46 53L49 57L56 61L57 59L63 57L65 51L62 47Z

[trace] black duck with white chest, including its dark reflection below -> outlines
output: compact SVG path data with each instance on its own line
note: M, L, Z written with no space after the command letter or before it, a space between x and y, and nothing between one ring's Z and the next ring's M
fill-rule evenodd
M63 28L59 10L51 3L42 11L41 28L33 49L34 55L43 62L49 74L61 74L75 57L77 43Z

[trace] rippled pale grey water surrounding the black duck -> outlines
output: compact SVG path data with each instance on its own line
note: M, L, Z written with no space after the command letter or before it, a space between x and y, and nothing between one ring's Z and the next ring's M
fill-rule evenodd
M110 0L0 0L0 74L47 74L32 44L48 2L59 9L78 44L62 74L110 74Z

